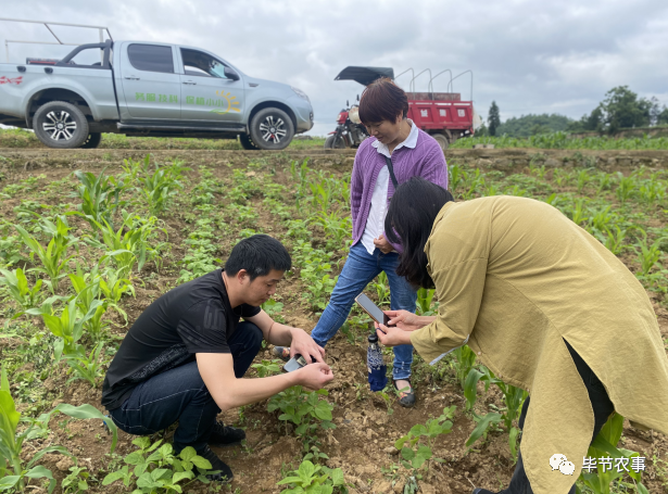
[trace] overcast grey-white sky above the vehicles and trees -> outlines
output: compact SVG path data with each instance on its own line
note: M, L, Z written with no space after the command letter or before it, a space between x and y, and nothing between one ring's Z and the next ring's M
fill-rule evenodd
M0 16L102 25L116 40L207 49L248 75L304 90L315 135L333 130L345 100L362 90L333 80L348 65L389 66L395 74L471 69L478 112L487 116L495 100L502 121L528 113L579 118L619 85L668 104L666 0L0 0ZM98 39L97 31L54 31L65 42ZM0 22L1 62L5 39L53 40L43 26ZM70 49L10 45L10 60ZM409 80L396 81L407 89ZM428 81L423 74L416 89ZM434 90L446 84L445 75L437 78ZM469 99L469 76L454 84Z

